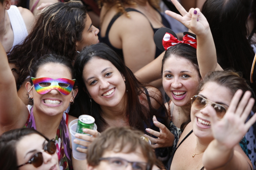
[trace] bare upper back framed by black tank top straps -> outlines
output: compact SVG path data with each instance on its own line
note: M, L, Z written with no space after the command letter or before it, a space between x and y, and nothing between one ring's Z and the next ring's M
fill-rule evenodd
M122 15L117 20L118 35L122 41L124 62L132 72L136 72L154 60L156 46L148 19L139 12L128 13L130 18Z

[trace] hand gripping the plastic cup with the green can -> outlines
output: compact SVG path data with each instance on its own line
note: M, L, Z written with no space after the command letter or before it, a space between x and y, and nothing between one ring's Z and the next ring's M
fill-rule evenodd
M98 132L97 130L92 130L92 129L83 129L83 132L86 134L90 134L90 135L86 135L86 134L76 134L75 137L79 138L79 139L83 139L85 141L80 141L80 140L74 140L74 143L88 147L92 141L95 140L96 137L98 137L100 135L100 132ZM74 148L73 148L74 149ZM87 149L82 149L82 148L76 148L77 151L79 152L83 152L83 153L87 153Z

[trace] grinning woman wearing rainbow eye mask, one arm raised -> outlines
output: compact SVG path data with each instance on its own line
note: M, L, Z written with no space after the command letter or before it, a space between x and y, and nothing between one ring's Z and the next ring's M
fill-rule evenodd
M75 160L72 155L68 125L76 119L64 111L73 103L77 90L71 61L57 55L44 55L30 67L31 79L26 83L26 106L18 97L15 79L7 56L0 45L0 134L16 128L33 128L47 138L54 138L62 169L79 170L86 161ZM97 136L97 131L91 130Z

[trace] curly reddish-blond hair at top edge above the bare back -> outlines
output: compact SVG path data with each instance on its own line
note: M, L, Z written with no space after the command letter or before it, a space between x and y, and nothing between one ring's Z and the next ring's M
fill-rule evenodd
M116 5L117 12L126 14L126 16L128 18L130 17L130 15L126 12L124 6L125 5L137 5L137 3L134 2L133 0L98 0L99 8L101 8L104 3L112 5L112 6ZM149 0L150 6L152 6L155 9L158 9L158 10L160 10L159 3L160 3L160 0Z

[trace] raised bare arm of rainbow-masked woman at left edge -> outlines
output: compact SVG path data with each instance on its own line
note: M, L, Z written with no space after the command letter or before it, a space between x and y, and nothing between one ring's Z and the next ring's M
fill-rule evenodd
M25 125L29 112L17 95L15 78L1 43L0 56L0 134L2 134Z

